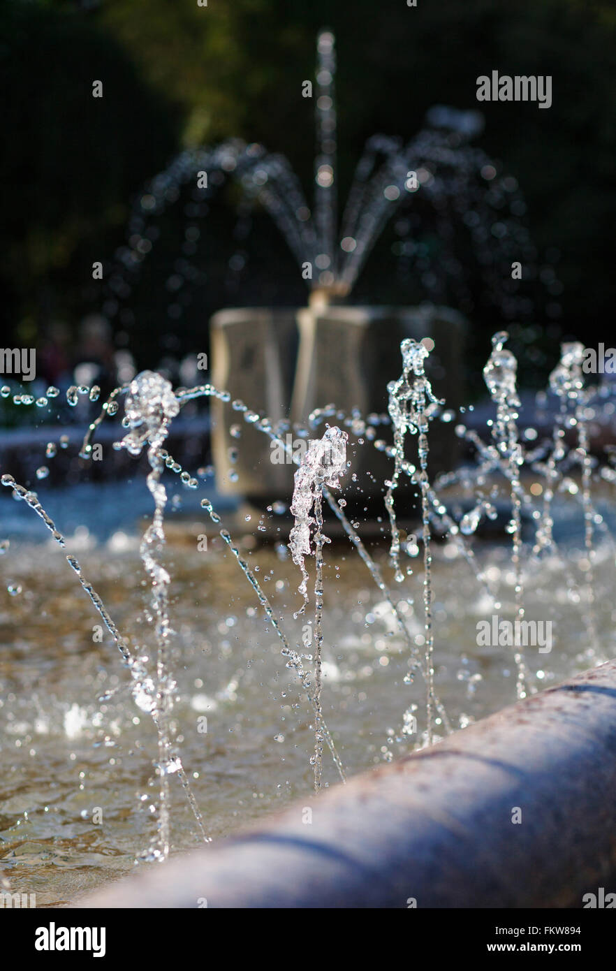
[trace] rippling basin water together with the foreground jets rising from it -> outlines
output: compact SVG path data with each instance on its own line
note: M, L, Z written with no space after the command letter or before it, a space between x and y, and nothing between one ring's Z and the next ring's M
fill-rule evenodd
M31 542L15 546L8 535L1 544L0 566L7 591L2 619L9 632L6 641L12 647L3 664L0 742L16 760L0 802L6 872L20 878L30 872L46 874L49 899L54 893L62 898L64 878L57 884L52 879L48 886L48 860L53 860L53 867L68 868L72 878L66 892L70 895L70 887L76 886L74 868L90 865L80 863L84 858L82 847L77 848L81 846L80 828L89 834L86 843L98 848L96 863L90 860L96 880L113 875L115 864L129 865L130 853L134 859L135 845L127 853L119 819L127 820L126 828L133 835L140 833L142 849L137 855L142 861L163 859L172 848L229 831L236 821L251 815L251 811L236 809L238 820L223 809L228 807L231 793L243 792L243 798L234 797L238 805L245 805L245 779L242 783L238 777L238 773L245 775L245 769L238 768L245 757L245 732L250 736L255 781L265 766L267 784L259 783L263 796L256 797L264 799L265 808L277 799L307 793L307 766L316 791L335 782L337 776L343 782L348 771L392 758L409 746L431 745L477 715L570 670L597 663L610 653L614 618L600 590L601 585L608 589L613 582L612 523L606 510L614 475L610 465L599 466L589 452L591 419L597 419L609 399L602 388L584 387L579 347L565 345L551 379L553 393L565 398L556 430L543 443L533 440L527 429L533 445L525 448L518 427L517 362L503 349L505 341L506 334L495 336L485 369L496 407L496 417L488 423L489 434L482 438L460 422L458 434L470 435L476 460L434 483L429 467L430 425L449 421L451 415L446 403L432 393L424 372L431 342L403 343L403 377L389 385L394 439L385 451L392 458L392 478L383 484L382 542L372 541L372 550L361 539L361 523L346 518L343 498L344 480L352 472L346 449L349 437L362 443L362 448L382 448L382 440L375 438L365 419L337 413L343 427L328 426L320 439L310 440L302 458L296 456L299 467L291 506L286 509L277 503L275 513L273 504L268 514L269 519L291 517L286 526L290 557L282 543L275 550L259 550L258 556L243 552L246 536L254 540L254 534L248 532L234 541L210 499L203 498L198 510L219 527L221 541L218 549L212 549L212 544L208 547L204 560L199 549L185 548L181 532L177 534L179 545L172 541L170 549L165 520L172 514L166 512L163 477L177 476L188 494L199 492L202 483L183 470L164 445L185 402L216 396L229 403L230 395L212 385L174 391L168 381L152 372L113 392L101 415L115 419L119 408L110 409L110 403L121 407L123 402L122 425L127 432L117 445L136 457L146 450L150 467L146 489L153 510L141 539L134 534L131 543L121 533L127 549L122 550L121 544L114 549L117 534L112 533L107 544L92 544L92 549L86 544L79 560L75 552L68 552L66 560L72 570L63 576L53 566L49 547L35 552ZM87 393L92 402L96 399L87 388L77 389L77 393ZM76 389L69 389L69 400L75 396ZM47 398L53 401L53 394ZM34 400L30 404L45 407ZM269 419L243 402L234 401L231 411L284 443ZM316 429L327 413L327 409L315 413L311 427ZM96 416L90 422L81 456L92 453L99 419ZM574 431L572 440L561 434L565 427ZM407 432L416 440L416 464L406 457ZM52 461L53 449L48 446L46 452ZM401 476L417 486L413 505L420 529L410 537L401 535L393 500ZM58 530L37 492L16 483L8 472L1 481L43 521L52 547L72 550L79 531L72 542ZM130 492L138 487L136 481ZM340 494L334 495L332 489ZM470 513L457 510L461 489L473 494ZM60 507L64 503L61 491ZM503 539L487 543L476 539L482 517L491 516L499 497L509 505L505 529L511 535L509 549ZM350 540L348 546L330 542L323 498L340 520ZM51 505L58 502L53 490L50 501ZM605 512L600 511L601 502ZM12 519L11 514L4 519L3 533L10 532ZM418 570L421 547L423 561ZM470 557L474 570L469 569ZM311 599L307 560L312 558L314 616L307 624L302 621L306 621ZM231 572L234 566L239 568L235 575ZM367 568L364 580L359 579L360 567ZM299 575L294 576L298 569ZM136 570L147 578L150 593L145 599ZM91 619L103 621L119 649L119 664L114 664L113 655L104 653L96 624L93 641L84 648L84 621L80 618L87 612L71 590L71 575L77 576L87 594L94 611ZM242 575L245 588L234 579L240 580ZM87 577L95 577L94 584ZM298 581L299 603L294 594ZM226 592L221 594L220 589ZM420 591L423 609L415 605ZM255 601L250 595L256 595ZM221 596L229 605L227 619L222 619L225 601ZM265 636L263 630L259 633L259 608L265 619ZM506 640L489 651L481 650L473 618L508 617L516 629L525 618L536 618L537 611L539 618L546 620L549 614L554 623L554 651L552 644L543 653L536 644L525 649ZM208 647L200 650L202 644ZM72 669L76 649L78 666L83 664L79 675ZM200 656L203 653L210 655L210 662ZM280 658L277 664L273 653ZM127 680L122 667L127 669ZM415 684L416 671L425 682L423 699ZM484 681L489 681L485 689ZM191 718L194 721L195 712L203 715L197 715L197 728L190 731L187 724ZM210 714L214 712L215 716ZM146 741L144 716L154 730L155 756ZM205 732L199 729L200 718L206 719ZM213 753L209 738L212 718L221 718ZM421 730L420 722L424 724ZM237 746L222 742L225 730L236 735L233 742ZM312 737L311 753L307 733ZM209 743L205 752L199 751L201 735ZM379 739L383 744L378 744ZM225 780L221 783L218 778L213 787L204 786L201 779L211 780L214 771L216 744L223 746ZM273 757L270 750L278 746L281 754ZM334 775L324 763L324 746L332 756ZM80 752L79 761L77 752L67 755L67 747ZM113 751L111 756L108 750ZM39 768L42 755L43 771ZM72 761L77 763L76 769L89 766L81 768L80 782L76 780L73 788L66 771ZM57 768L49 775L52 764ZM65 768L60 769L61 765ZM135 793L132 783L127 786L127 766L139 766L145 791ZM49 787L57 787L58 771L63 780L60 808L49 798ZM170 785L174 776L181 784L179 793ZM104 778L108 785L113 781L109 798L101 792ZM185 810L181 799L178 803L178 794L185 800ZM92 808L82 810L79 820L71 822L68 807L76 799L89 800ZM139 811L143 803L149 812L147 820ZM95 810L105 819L100 829L92 821ZM46 823L49 813L49 820L55 818L58 823L54 833ZM65 817L61 824L58 813ZM115 860L109 873L102 862L106 853Z

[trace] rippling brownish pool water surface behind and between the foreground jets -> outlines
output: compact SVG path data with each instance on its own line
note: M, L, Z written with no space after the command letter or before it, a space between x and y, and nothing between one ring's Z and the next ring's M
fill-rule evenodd
M72 504L61 492L50 505L54 502L66 509L64 522L56 513L58 524L66 525ZM118 507L115 516L123 522L126 510ZM11 534L5 525L4 533ZM218 838L292 798L311 795L314 740L308 702L237 562L219 538L210 540L208 552L197 552L197 530L188 519L174 523L172 517L165 553L178 646L180 700L174 716L184 767L208 831ZM69 532L67 552L79 555L120 630L143 643L150 636L140 618L148 586L138 538L129 530L105 533L99 529L96 538L83 529ZM121 875L146 849L155 826L156 733L127 690L128 675L109 635L93 640L99 618L63 553L52 542L34 544L33 536L12 537L10 553L0 558L0 877L13 891L36 892L40 906L74 900ZM387 549L380 542L372 552L391 580ZM479 540L476 552L507 590L501 616L512 617L507 545ZM309 613L293 619L301 597L290 557L281 559L274 544L245 555L258 567L257 577L292 643L301 642ZM325 548L325 562L323 709L345 768L353 773L409 751L412 740L399 743L396 736L412 701L423 730L425 689L420 678L413 686L404 684L404 642L357 554L348 544L333 543ZM421 565L410 562L417 563L415 576L405 586L392 584L392 590L401 598L414 596L417 616L412 607L405 605L405 611L421 645ZM608 565L609 571L603 569ZM598 603L605 655L616 619L613 565L613 549L601 548L597 574L605 588ZM594 663L586 653L577 594L567 588L562 564L544 561L528 576L527 587L527 618L554 623L552 652L527 652L533 684L549 685ZM515 670L507 649L476 646L476 622L493 609L451 544L435 549L434 590L437 690L453 723L464 725L514 701ZM116 689L112 698L99 702L110 689ZM327 752L324 782L337 783ZM172 849L178 852L195 847L198 836L181 787L172 786L172 793Z

